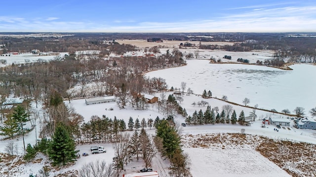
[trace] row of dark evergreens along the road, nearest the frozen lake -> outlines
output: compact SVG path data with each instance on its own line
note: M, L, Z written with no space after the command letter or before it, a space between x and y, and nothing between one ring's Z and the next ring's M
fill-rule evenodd
M235 110L230 116L230 115L226 115L224 110L222 110L222 112L219 113L219 112L216 112L214 109L211 109L210 106L207 106L204 113L202 112L201 109L198 112L195 111L192 116L188 116L185 119L185 122L189 125L203 125L203 124L215 124L215 123L236 124L237 122L243 125L245 123L245 115L244 115L244 112L241 111L237 119L237 114Z

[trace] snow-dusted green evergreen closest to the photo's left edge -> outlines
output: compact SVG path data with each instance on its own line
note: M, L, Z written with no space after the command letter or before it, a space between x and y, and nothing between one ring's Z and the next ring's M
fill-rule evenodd
M8 136L10 139L19 132L18 122L12 118L11 114L6 115L6 120L4 120L3 125L0 126L0 131L0 135Z

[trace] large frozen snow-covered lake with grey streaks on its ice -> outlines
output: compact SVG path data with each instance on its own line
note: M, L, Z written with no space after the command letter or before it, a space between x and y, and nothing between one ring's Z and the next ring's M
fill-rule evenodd
M161 77L169 88L187 83L194 93L211 90L214 97L223 95L229 101L242 104L250 99L250 106L281 111L303 107L307 112L316 106L316 67L309 64L291 65L293 70L281 70L258 65L210 64L208 60L187 60L187 65L149 72L147 77Z

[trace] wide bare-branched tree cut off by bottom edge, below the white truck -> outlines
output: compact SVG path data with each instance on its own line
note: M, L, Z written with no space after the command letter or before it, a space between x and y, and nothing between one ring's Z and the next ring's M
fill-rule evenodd
M79 177L115 177L115 171L112 164L96 160L83 165Z

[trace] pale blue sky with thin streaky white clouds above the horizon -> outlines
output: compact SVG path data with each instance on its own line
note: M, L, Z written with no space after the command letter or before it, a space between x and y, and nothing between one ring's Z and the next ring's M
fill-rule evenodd
M0 32L315 32L316 0L4 0Z

